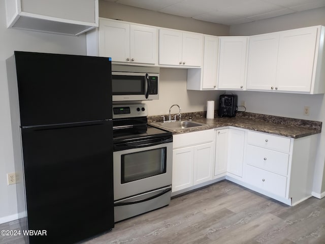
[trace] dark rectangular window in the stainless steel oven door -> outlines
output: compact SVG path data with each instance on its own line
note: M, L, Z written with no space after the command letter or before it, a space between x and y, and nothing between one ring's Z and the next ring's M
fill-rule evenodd
M167 147L121 156L121 184L166 173Z

